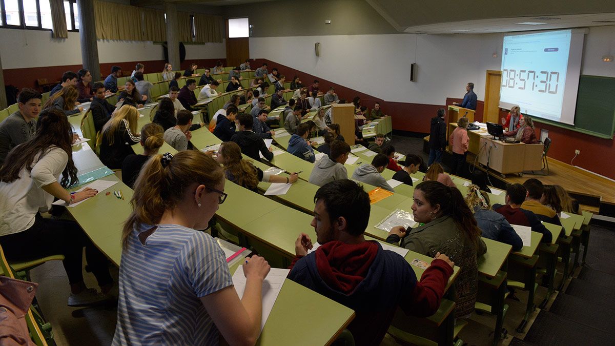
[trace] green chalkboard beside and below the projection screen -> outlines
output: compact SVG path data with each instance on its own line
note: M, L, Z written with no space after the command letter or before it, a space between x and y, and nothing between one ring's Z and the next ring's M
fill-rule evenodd
M574 126L534 118L538 123L612 139L615 131L615 78L581 75Z

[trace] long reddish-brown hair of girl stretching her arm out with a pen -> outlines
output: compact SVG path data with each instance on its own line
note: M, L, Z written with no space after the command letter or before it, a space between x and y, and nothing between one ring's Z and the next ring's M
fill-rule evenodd
M235 142L224 142L218 149L223 157L224 171L232 182L246 188L256 188L258 175L256 167L241 157L241 148Z

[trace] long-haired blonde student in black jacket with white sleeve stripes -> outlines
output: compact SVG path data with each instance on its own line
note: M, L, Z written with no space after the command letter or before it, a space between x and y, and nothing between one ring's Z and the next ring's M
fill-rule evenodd
M98 137L100 161L110 169L121 169L126 156L134 154L132 145L141 142L137 133L139 112L132 105L125 104L116 115L107 121Z

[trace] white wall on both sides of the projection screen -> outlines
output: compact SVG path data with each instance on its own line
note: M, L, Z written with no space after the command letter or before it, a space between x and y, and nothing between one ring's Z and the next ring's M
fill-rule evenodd
M502 36L250 38L250 56L279 62L386 101L443 105L446 97L463 97L467 82L474 82L478 99L484 99L486 70L499 70L501 65ZM320 42L320 57L315 57L315 42ZM498 57L493 57L494 52ZM615 26L590 28L585 36L581 73L615 77L615 63L600 60L609 52L615 52ZM418 64L417 82L410 82L412 62Z

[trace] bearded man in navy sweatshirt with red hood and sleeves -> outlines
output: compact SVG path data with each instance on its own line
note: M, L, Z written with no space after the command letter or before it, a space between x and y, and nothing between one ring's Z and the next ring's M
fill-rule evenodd
M316 191L314 202L311 225L320 246L308 254L312 241L301 233L288 278L354 310L348 329L355 344L379 345L397 307L419 317L438 310L453 273L445 254L438 253L417 282L402 256L365 240L370 198L360 185L335 180Z

